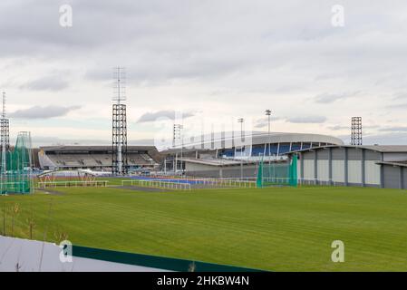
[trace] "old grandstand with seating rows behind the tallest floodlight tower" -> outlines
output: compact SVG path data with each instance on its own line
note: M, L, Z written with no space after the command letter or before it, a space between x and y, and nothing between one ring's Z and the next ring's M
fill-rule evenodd
M128 146L130 169L154 169L160 164L160 153L154 146ZM41 169L92 169L111 171L111 146L47 146L38 151Z

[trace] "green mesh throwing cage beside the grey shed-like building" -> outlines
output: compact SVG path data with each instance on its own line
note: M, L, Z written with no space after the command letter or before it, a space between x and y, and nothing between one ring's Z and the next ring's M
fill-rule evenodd
M264 163L262 160L257 170L257 188L273 185L296 187L298 182L296 165L296 155L289 162Z

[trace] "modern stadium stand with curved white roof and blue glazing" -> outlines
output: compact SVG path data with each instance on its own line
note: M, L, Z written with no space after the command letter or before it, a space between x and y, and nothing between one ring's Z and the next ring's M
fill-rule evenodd
M166 171L183 169L189 176L242 178L256 176L257 163L265 157L269 161L281 161L295 150L343 144L343 140L322 134L224 132L191 138L190 142L183 140L181 145L176 144L161 154L165 156Z

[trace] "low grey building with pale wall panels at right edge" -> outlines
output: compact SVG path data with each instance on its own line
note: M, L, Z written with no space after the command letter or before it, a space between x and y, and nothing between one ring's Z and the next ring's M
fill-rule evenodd
M303 184L407 189L407 146L331 145L293 154Z

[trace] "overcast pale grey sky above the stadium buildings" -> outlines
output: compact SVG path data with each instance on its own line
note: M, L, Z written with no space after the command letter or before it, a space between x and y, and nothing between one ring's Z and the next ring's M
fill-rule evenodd
M60 6L73 8L72 27ZM344 7L344 26L332 23ZM131 143L186 130L334 135L407 143L407 2L2 0L0 88L11 135L111 142L112 68L127 74ZM177 111L177 112L175 112ZM164 129L165 130L164 130Z

